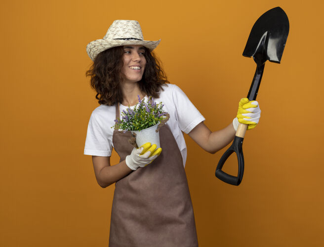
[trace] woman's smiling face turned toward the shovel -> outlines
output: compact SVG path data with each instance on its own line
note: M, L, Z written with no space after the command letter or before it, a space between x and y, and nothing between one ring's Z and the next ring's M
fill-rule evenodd
M146 65L145 48L142 45L125 45L123 52L123 82L140 81Z

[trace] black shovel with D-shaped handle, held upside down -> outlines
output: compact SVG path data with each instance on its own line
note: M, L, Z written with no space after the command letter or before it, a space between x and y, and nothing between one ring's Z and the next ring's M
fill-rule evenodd
M265 62L269 60L270 62L280 63L288 32L288 17L280 7L268 10L254 23L243 51L243 56L253 57L256 63L253 81L247 94L249 100L256 99ZM216 167L215 176L225 183L239 185L242 182L244 172L242 145L246 129L247 124L239 124L232 145L220 158ZM225 161L234 152L239 163L237 177L222 171Z

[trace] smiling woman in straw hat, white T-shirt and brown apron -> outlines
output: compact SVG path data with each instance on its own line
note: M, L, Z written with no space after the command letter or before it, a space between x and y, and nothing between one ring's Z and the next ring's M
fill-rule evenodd
M99 100L91 114L84 154L92 155L98 184L116 182L110 247L196 247L195 219L184 165L187 149L182 132L209 153L225 147L240 122L253 128L259 120L256 101L240 101L238 118L211 132L183 91L168 81L152 51L159 41L144 41L137 21L117 20L102 40L87 45L94 61L87 72ZM170 119L160 129L161 149L132 147L129 132L112 129L126 106L152 96L163 102ZM244 110L246 109L246 110ZM242 114L248 113L249 117ZM244 119L245 118L245 119ZM153 144L153 143L152 143ZM121 157L110 165L112 147ZM149 165L148 165L149 164Z

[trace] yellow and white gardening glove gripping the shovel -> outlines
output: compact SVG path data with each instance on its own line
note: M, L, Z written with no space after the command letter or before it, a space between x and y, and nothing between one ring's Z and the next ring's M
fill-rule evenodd
M234 122L240 122L241 124L248 124L247 130L252 129L259 123L260 115L261 110L257 101L249 101L248 98L242 98L239 103L238 115L236 116L237 121L234 119L233 125L236 126ZM237 125L239 124L237 123ZM237 126L235 130L237 130Z

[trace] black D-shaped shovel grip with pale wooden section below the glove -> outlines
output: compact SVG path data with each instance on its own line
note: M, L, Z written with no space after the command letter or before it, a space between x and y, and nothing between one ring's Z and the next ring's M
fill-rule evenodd
M242 145L243 145L243 139L244 139L246 128L247 128L246 124L241 124L241 123L239 124L232 145L226 150L226 152L220 158L218 165L216 167L215 176L225 183L232 184L232 185L239 185L242 182L243 173L244 173L244 157L243 157ZM238 157L238 165L239 165L239 171L237 177L222 171L224 163L226 162L228 157L230 157L230 155L233 154L234 152Z

